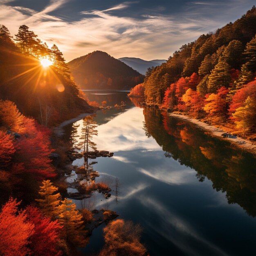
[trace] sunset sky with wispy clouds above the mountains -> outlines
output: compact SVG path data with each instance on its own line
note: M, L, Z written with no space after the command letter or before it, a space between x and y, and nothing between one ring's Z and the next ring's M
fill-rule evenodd
M0 0L0 24L27 25L67 61L101 50L167 59L185 43L240 18L254 0Z

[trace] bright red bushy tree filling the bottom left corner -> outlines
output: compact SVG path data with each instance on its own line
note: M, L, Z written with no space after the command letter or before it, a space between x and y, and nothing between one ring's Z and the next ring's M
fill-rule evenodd
M0 213L0 254L25 256L29 254L29 237L34 233L34 224L26 221L25 211L18 211L20 202L10 198Z

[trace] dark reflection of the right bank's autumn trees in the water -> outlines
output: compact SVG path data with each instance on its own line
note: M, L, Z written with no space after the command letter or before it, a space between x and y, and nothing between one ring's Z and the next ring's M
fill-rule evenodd
M256 215L255 159L241 154L225 141L209 137L194 124L171 118L166 112L144 109L145 129L165 151L166 157L193 168L203 182L207 177L213 189L226 192L229 204L238 203L251 215Z

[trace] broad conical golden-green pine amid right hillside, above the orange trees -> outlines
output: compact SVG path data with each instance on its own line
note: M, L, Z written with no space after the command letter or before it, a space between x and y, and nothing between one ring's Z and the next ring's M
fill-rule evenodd
M209 81L207 84L208 92L214 93L222 86L228 87L231 81L230 67L226 63L223 57L218 61L218 64L214 67L209 75Z

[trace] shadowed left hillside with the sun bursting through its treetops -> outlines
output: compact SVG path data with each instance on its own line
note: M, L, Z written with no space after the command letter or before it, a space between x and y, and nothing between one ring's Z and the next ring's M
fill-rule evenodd
M22 114L46 126L66 118L70 110L92 111L56 45L49 49L26 25L14 39L2 25L0 45L1 99L13 101ZM52 65L44 67L42 60Z

